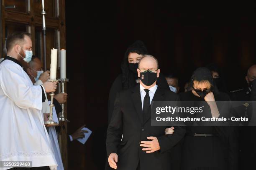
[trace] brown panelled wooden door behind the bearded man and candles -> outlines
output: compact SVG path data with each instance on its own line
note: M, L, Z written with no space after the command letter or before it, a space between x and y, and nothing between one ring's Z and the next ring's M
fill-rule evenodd
M33 54L43 63L42 0L0 0L0 4L0 58L6 55L7 36L15 31L26 31L31 33ZM46 67L50 70L51 49L66 49L65 0L44 0L44 7L46 11ZM59 67L57 75L59 75ZM67 105L65 110L67 110ZM67 117L67 112L65 112L65 117ZM67 123L61 127L59 146L64 169L67 170Z

